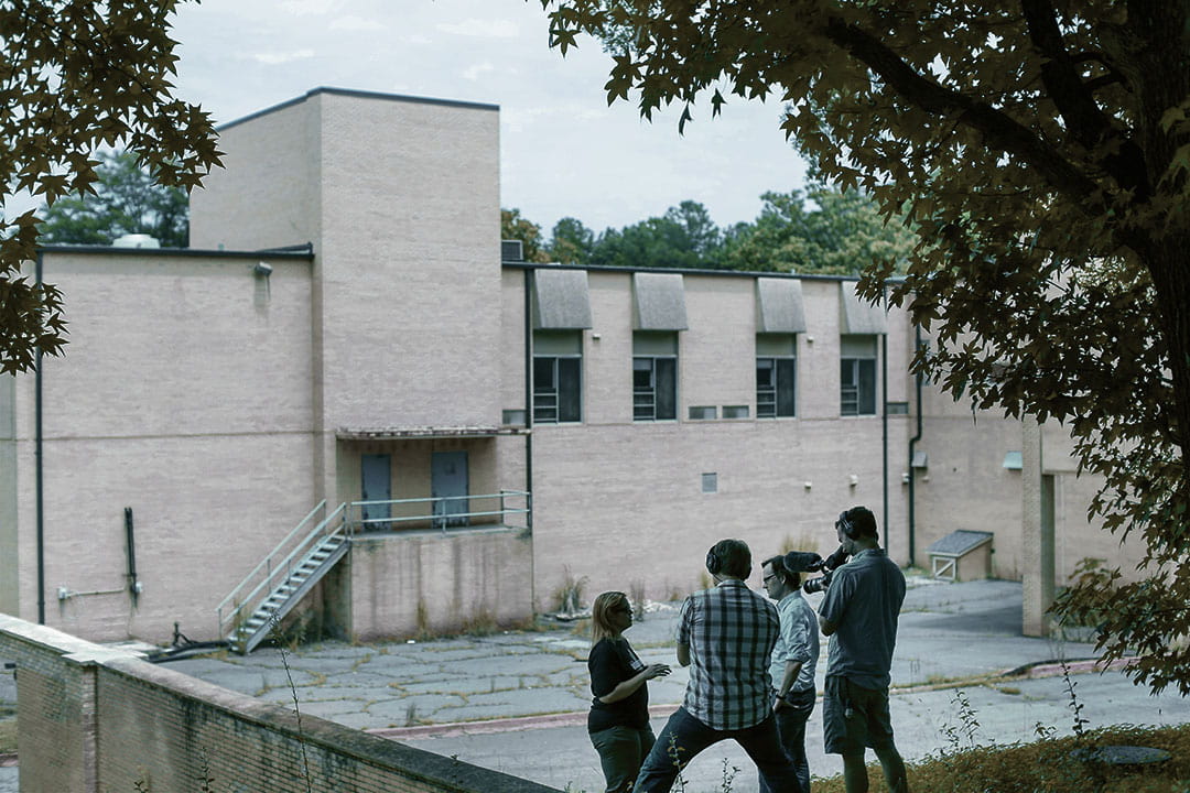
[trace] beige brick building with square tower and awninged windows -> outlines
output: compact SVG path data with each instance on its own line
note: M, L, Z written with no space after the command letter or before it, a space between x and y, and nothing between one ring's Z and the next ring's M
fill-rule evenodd
M502 260L493 106L319 89L220 149L192 250L30 265L70 344L0 379L0 611L215 638L314 525L350 542L301 611L359 638L515 622L568 580L682 594L716 540L825 554L859 503L903 565L990 533L1038 598L1123 553L1061 429L919 397L907 315L853 281Z

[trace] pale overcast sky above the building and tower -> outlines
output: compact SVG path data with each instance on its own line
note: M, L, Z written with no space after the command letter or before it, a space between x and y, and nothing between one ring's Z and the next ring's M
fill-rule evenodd
M641 121L608 107L608 57L549 48L539 0L202 0L181 7L177 95L221 124L320 86L500 106L501 206L549 235L571 215L596 232L691 199L721 226L765 190L800 187L781 103L728 103Z

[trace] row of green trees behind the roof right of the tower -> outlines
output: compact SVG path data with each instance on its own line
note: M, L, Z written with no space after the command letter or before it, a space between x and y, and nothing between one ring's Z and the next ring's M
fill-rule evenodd
M563 218L549 239L519 209L502 209L501 232L524 244L528 262L834 275L876 263L904 272L917 243L903 219L885 222L862 190L814 183L760 199L754 221L726 227L715 225L703 204L683 201L663 215L599 234L577 218Z

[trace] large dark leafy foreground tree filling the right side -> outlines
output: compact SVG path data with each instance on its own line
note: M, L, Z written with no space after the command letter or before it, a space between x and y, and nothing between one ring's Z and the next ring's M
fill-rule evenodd
M1106 656L1190 693L1190 4L1175 0L543 0L551 43L612 55L650 118L787 102L819 172L922 241L891 300L914 369L979 408L1070 428L1092 515L1146 545L1058 605ZM892 263L864 271L875 298ZM1106 603L1110 608L1104 609Z

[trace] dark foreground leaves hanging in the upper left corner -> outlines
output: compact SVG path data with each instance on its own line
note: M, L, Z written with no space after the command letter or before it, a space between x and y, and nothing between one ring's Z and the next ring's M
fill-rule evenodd
M126 147L162 184L192 188L219 163L214 127L171 95L178 0L11 0L0 4L0 181L48 206L87 194L93 152ZM37 218L0 220L0 372L26 371L65 344L62 295L30 283Z

